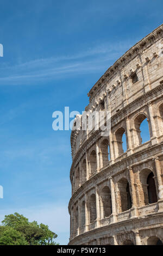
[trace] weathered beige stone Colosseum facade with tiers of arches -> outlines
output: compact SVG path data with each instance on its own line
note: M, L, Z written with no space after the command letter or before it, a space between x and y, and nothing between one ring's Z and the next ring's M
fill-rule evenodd
M88 93L86 118L103 111L106 124L109 111L110 132L71 132L68 245L163 244L162 57L163 25L123 54ZM145 121L149 139L143 142Z

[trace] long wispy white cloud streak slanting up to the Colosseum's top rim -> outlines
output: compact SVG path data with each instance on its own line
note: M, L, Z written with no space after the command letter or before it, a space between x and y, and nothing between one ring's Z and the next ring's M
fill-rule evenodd
M0 69L0 84L32 84L67 76L105 71L109 63L120 57L131 42L103 43L76 54L30 60Z

